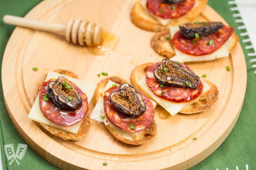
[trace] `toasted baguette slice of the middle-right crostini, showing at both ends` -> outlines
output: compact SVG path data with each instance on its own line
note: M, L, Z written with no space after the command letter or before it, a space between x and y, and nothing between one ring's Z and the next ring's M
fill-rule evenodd
M145 95L147 95L148 98L150 98L151 100L153 99L147 93L144 92L144 90L139 86L138 82L141 76L145 76L148 67L151 66L152 64L154 63L145 63L135 67L131 75L131 81L132 81L133 87L137 89L140 93L144 93ZM199 113L202 111L206 111L214 106L215 102L218 99L219 91L213 83L205 79L204 81L210 86L210 90L205 94L201 95L197 102L181 110L180 113L184 113L184 114Z

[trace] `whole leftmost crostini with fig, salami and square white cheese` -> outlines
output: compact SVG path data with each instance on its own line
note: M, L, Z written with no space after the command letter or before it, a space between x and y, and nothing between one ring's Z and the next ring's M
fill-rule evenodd
M95 87L95 84L78 80L73 72L49 71L39 85L28 118L64 140L80 140L91 125L88 110Z

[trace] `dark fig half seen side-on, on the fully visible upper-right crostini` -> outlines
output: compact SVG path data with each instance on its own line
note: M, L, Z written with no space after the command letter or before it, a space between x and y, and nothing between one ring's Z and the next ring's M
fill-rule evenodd
M188 23L180 25L182 34L188 39L195 38L195 33L197 33L199 37L211 35L222 27L223 24L221 22Z

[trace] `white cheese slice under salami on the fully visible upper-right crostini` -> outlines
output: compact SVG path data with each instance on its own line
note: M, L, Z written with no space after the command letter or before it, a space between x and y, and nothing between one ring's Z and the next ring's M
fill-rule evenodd
M171 38L173 39L174 35L180 30L179 26L170 26L170 32L171 32ZM214 51L211 54L203 55L203 56L192 56L185 53L182 53L180 50L174 48L176 56L181 59L183 62L191 62L191 61L208 61L208 60L214 60L219 59L223 57L228 57L228 44L232 41L231 39L228 39L221 48Z

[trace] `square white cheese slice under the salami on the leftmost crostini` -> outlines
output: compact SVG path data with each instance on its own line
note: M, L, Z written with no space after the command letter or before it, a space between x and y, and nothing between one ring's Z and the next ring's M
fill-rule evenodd
M59 74L59 73L55 73L55 72L52 72L52 71L49 71L45 81L48 81L49 79L51 78L58 78L59 76L63 76L62 74ZM95 84L92 84L92 83L88 83L88 82L84 82L82 80L78 80L78 79L75 79L75 78L72 78L72 77L69 77L69 76L65 76L67 79L69 79L70 81L72 81L73 83L75 83L75 85L77 87L79 87L82 92L84 92L87 97L88 97L88 103L90 103L92 97L93 97L93 93L94 93L94 90L96 88L96 85ZM35 102L29 112L29 116L28 116L29 119L32 119L36 122L40 122L40 123L43 123L43 124L46 124L46 125L49 125L51 127L56 127L58 129L62 129L62 130L66 130L68 132L72 132L72 133L77 133L80 125L81 125L81 122L78 122L76 123L75 125L72 125L72 126L60 126L60 125L57 125L53 122L51 122L49 119L47 119L42 111L40 110L40 107L39 107L39 94L37 95L36 99L35 99Z

